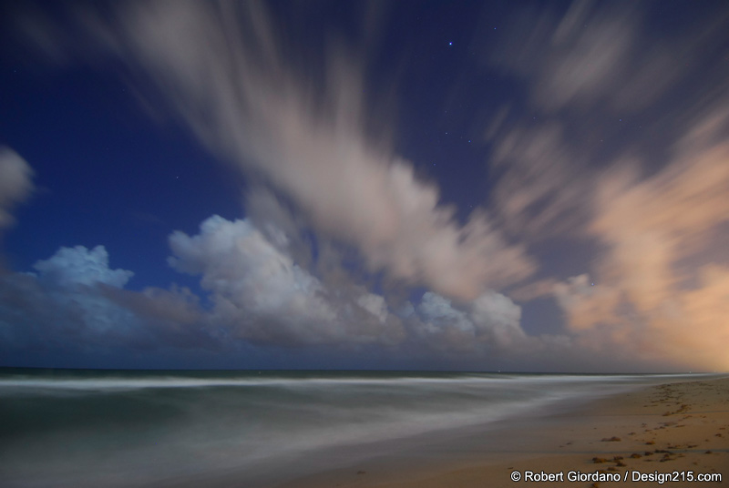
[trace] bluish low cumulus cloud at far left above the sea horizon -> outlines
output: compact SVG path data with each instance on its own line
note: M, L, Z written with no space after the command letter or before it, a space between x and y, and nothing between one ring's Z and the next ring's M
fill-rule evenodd
M58 249L34 269L0 276L0 351L15 361L234 349L190 290L125 290L134 273L109 268L103 246Z

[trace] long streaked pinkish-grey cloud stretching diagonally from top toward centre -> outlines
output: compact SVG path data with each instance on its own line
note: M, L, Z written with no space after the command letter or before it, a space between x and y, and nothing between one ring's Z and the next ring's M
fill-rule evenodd
M135 3L78 18L204 144L358 249L371 271L473 299L536 268L487 211L461 225L435 184L368 136L387 124L368 118L349 46L331 43L323 68L303 76L301 53L259 3Z

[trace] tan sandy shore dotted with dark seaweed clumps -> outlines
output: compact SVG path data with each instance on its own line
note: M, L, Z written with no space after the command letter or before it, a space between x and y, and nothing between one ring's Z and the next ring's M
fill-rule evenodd
M447 463L435 457L433 463L372 460L281 488L729 485L729 378L647 387L569 414L504 424L488 437L489 442L465 441L462 461L452 461L458 456L449 445ZM527 471L554 473L558 480L562 473L564 481L525 481ZM521 475L518 483L511 480L513 472ZM621 481L570 482L570 472L618 473ZM676 479L639 483L632 481L636 472L674 473ZM699 483L700 473L718 473L722 481Z

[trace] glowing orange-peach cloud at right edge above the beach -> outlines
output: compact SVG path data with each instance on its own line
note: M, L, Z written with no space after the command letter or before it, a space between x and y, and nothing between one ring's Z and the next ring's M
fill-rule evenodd
M688 367L726 369L729 327L719 315L729 294L729 262L703 261L729 221L729 103L697 117L650 178L634 161L601 180L587 232L605 252L594 288L583 275L555 286L570 327L610 330L636 354Z

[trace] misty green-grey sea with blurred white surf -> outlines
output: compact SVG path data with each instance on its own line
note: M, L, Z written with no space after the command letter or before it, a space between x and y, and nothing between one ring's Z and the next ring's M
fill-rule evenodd
M0 486L276 486L687 377L0 369Z

